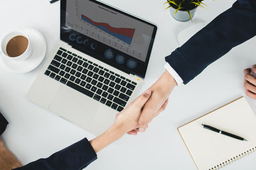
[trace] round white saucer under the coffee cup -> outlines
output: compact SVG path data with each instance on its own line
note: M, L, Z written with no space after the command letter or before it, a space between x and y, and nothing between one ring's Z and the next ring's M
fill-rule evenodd
M12 60L1 56L3 65L13 73L27 73L35 69L44 59L46 52L46 42L41 32L36 29L27 28L22 30L29 36L32 53L26 60Z

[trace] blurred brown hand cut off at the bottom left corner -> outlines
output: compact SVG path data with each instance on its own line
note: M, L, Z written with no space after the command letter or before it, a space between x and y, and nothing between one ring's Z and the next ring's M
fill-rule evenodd
M0 139L0 169L10 170L21 166L22 164L20 164L19 160L5 148L3 141Z

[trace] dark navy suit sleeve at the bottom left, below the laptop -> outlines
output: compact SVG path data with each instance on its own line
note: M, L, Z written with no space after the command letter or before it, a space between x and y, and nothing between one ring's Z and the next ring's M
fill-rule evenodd
M38 159L15 170L79 170L88 166L96 159L96 153L89 141L84 138L46 159Z

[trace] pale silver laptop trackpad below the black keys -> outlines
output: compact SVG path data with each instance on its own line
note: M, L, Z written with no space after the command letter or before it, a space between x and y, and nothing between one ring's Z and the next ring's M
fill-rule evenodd
M98 105L92 98L70 87L61 86L49 110L84 129L90 129Z

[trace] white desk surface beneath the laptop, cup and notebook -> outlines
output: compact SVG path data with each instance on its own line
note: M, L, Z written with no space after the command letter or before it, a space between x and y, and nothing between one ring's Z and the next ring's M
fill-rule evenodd
M204 21L206 24L227 10L234 0L204 1L207 7L196 11L194 23L174 20L169 11L164 10L164 0L104 2L150 20L159 27L145 84L141 89L143 92L163 73L164 57L179 46L177 34L180 30L196 22ZM60 2L1 0L0 16L0 39L22 27L34 27L42 32L47 41L45 58L60 37ZM255 44L256 38L252 38L237 46L188 85L175 88L168 107L154 119L147 132L139 136L125 135L100 152L98 159L87 169L196 169L177 127L237 97L245 96L243 69L256 64ZM26 74L10 73L0 64L0 112L10 122L1 139L22 164L48 157L84 137L94 137L25 98L42 64ZM256 101L246 99L256 112ZM255 160L256 153L252 153L223 169L256 169Z

